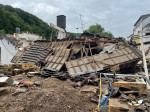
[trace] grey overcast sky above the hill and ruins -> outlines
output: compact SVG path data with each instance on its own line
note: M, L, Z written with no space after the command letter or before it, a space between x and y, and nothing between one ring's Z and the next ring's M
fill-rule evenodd
M134 23L150 13L150 0L0 0L32 13L47 23L56 24L57 15L66 15L69 32L81 32L80 15L84 29L96 23L114 36L128 37Z

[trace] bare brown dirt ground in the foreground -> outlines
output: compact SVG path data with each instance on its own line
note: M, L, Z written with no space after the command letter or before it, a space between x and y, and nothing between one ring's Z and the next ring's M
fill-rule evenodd
M12 92L0 95L0 112L92 112L97 106L90 101L94 93L82 92L87 88L93 89L94 86L74 88L72 82L52 77L27 78L25 75L17 75L13 78L40 81L41 85L15 96Z

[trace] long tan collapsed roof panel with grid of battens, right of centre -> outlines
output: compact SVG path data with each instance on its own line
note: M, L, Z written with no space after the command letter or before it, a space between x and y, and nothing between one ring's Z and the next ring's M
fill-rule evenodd
M116 49L112 53L102 53L86 56L80 59L66 62L66 67L71 76L87 74L95 70L99 71L114 65L130 63L141 58L141 55L130 47Z

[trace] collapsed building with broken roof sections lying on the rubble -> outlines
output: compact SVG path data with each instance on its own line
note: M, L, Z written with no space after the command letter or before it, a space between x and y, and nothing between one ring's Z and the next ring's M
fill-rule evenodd
M67 69L70 76L77 76L109 70L115 65L127 72L141 58L141 53L123 39L85 33L80 39L35 41L34 45L19 50L11 62L33 62L58 72Z

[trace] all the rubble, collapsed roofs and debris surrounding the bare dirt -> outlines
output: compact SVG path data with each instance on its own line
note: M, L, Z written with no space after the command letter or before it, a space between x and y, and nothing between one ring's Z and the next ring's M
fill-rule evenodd
M80 38L39 40L19 50L13 64L0 65L0 73L8 76L0 77L0 86L15 86L15 96L42 85L40 81L30 82L32 77L58 78L73 82L74 88L93 85L94 89L82 93L92 91L89 99L99 103L101 111L148 111L150 82L144 73L140 74L141 60L141 51L121 38L83 33ZM21 79L13 85L11 77L19 74L26 75L29 81Z

